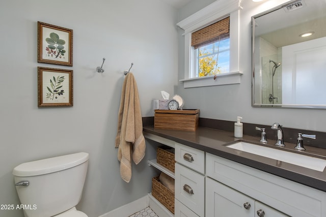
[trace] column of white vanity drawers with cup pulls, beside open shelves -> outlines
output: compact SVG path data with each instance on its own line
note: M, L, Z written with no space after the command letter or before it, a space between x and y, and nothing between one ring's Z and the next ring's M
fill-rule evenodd
M205 215L205 152L175 144L175 216Z

